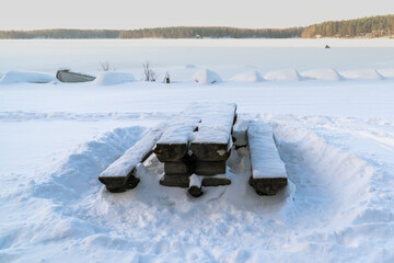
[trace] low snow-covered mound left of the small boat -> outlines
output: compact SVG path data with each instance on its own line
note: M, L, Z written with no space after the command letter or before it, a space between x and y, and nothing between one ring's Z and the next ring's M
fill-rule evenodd
M8 71L0 79L1 84L13 83L49 83L56 81L56 78L48 73L31 72L31 71Z

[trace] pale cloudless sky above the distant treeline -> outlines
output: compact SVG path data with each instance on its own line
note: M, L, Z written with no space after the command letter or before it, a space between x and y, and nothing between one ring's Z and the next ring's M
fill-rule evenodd
M0 0L0 30L290 27L394 14L393 0Z

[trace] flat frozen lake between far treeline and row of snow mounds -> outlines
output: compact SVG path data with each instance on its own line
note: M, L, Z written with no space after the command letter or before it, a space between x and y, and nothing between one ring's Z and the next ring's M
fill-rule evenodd
M325 45L332 48L325 49ZM150 60L163 70L198 67L299 71L316 68L394 68L394 39L8 39L0 41L0 72L140 70ZM220 73L220 72L219 72Z

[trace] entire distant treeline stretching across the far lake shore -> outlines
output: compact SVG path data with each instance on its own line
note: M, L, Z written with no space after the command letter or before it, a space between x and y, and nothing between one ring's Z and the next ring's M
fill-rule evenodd
M289 37L394 37L394 14L331 21L308 27L155 27L143 30L36 30L0 31L0 38L289 38Z

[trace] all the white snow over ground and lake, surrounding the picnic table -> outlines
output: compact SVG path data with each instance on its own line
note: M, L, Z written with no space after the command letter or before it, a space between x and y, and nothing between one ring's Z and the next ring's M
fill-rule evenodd
M0 47L0 262L394 261L391 39ZM172 83L139 81L146 59ZM101 75L100 61L123 73ZM63 66L102 80L26 83ZM222 81L194 82L205 69ZM241 121L270 124L288 187L256 195L241 148L228 161L232 184L200 198L160 186L154 157L137 188L107 193L99 174L193 102L235 102Z

